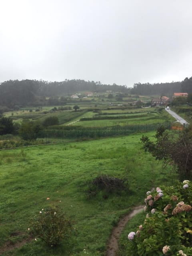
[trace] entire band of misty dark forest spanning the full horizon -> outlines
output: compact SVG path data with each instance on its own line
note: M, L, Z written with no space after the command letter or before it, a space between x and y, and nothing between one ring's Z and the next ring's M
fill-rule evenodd
M174 92L192 93L192 77L182 82L134 84L133 88L117 84L101 84L101 82L84 80L64 80L62 82L48 82L44 80L9 80L0 84L0 106L15 108L15 106L40 106L49 103L56 104L56 97L60 97L58 104L66 102L66 96L81 91L102 93L106 91L130 93L135 95L166 95Z

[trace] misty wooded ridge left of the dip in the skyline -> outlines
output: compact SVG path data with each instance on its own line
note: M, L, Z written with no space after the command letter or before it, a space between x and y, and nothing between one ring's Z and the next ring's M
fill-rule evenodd
M0 106L12 108L18 106L40 105L45 97L71 95L80 91L90 92L128 92L126 86L117 84L101 84L84 80L65 80L63 82L47 82L43 80L9 80L0 84ZM64 104L65 99L62 99Z

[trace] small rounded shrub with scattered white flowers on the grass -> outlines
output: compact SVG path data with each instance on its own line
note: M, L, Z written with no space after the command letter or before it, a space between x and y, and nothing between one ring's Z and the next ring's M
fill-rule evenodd
M68 239L71 232L71 220L58 207L42 209L31 222L30 235L51 247Z

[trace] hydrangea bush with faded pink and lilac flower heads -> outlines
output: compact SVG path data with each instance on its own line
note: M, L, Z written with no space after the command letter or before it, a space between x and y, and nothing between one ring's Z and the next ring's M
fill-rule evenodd
M128 234L129 255L192 255L192 182L154 188L144 202L144 223Z

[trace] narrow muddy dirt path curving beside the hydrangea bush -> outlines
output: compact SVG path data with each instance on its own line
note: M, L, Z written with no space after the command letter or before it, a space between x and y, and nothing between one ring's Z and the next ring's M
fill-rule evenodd
M132 218L138 212L141 212L143 208L144 208L144 205L139 205L139 206L134 207L132 212L130 212L129 214L124 216L118 222L118 226L116 226L113 229L112 234L110 236L110 240L109 240L109 243L108 243L108 250L107 250L106 256L115 256L116 255L116 251L118 250L118 239L120 238L120 234L121 234L124 226L126 225L128 220L130 220L130 218Z

